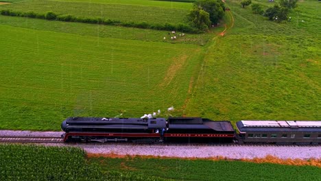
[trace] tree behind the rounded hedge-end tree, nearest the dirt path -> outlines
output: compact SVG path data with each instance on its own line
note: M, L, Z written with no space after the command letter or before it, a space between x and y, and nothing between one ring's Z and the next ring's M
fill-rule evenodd
M219 22L224 16L225 5L221 0L197 0L194 2L194 9L201 8L209 13L209 19L213 24Z

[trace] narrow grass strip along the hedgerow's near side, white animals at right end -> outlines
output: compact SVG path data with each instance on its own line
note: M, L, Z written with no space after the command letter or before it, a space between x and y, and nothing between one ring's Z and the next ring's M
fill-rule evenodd
M153 29L139 29L132 27L117 27L112 25L91 25L86 23L69 23L61 21L47 21L43 19L28 19L14 16L0 16L1 25L24 27L51 32L80 34L84 36L97 36L102 38L121 38L124 40L142 40L165 43L184 43L205 45L213 36L212 34L186 34L176 40L171 40L173 34L168 31ZM177 32L176 34L182 34ZM166 38L165 40L163 38Z

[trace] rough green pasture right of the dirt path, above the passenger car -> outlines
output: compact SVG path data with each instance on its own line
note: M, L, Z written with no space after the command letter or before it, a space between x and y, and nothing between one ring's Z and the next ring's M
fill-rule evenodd
M235 25L209 45L187 116L320 120L320 19L278 24L227 3ZM316 16L317 4L299 10Z

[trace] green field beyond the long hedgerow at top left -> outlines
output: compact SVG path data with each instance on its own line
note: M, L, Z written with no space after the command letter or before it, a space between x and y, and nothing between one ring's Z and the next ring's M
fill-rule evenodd
M163 2L170 3L170 2ZM22 1L1 5L0 10L43 13L52 11L56 14L70 14L80 18L101 17L102 19L121 22L143 22L150 24L185 23L189 13L186 9L160 8L155 6L89 3L74 1Z

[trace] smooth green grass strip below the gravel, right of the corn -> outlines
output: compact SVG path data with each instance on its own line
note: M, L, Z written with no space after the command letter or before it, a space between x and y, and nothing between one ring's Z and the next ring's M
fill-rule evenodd
M164 180L320 180L321 169L310 166L257 164L241 161L160 158L90 158L104 173L154 176Z

